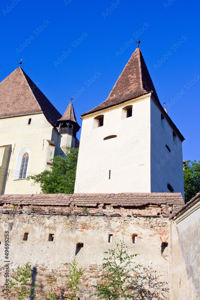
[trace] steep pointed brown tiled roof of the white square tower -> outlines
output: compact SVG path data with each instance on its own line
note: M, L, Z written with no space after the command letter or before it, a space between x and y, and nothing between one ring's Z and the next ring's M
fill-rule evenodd
M124 70L117 79L117 82L112 88L112 91L106 101L102 102L100 105L94 107L82 116L137 98L149 92L152 92L154 97L158 100L158 96L151 80L151 76L149 75L142 52L139 48L137 48L124 67Z

